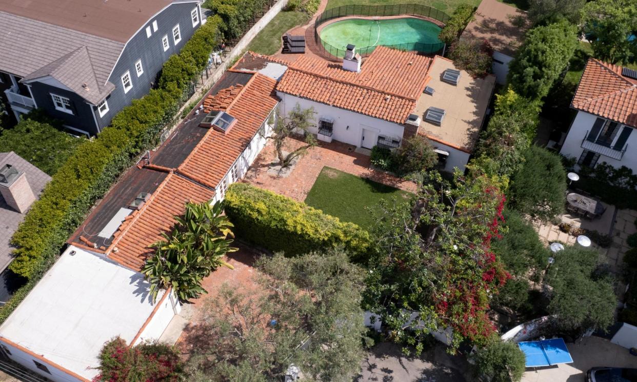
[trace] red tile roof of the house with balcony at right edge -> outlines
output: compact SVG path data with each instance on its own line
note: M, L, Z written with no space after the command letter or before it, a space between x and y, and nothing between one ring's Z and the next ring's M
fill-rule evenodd
M571 106L637 127L637 80L622 76L622 67L589 59Z

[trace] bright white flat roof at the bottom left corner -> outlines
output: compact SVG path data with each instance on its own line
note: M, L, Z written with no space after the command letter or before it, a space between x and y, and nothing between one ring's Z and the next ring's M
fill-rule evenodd
M115 336L131 343L152 315L148 288L142 274L69 246L0 326L0 337L92 379L103 344Z

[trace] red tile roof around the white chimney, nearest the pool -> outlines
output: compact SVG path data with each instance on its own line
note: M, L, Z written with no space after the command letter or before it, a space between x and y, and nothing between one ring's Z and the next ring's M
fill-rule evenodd
M431 58L378 46L360 73L341 64L302 56L290 64L276 90L402 124L429 81Z

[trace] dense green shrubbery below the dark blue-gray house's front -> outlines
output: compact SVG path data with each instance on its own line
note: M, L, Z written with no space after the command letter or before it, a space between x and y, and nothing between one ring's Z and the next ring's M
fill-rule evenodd
M0 152L15 152L49 175L55 174L73 154L82 138L59 131L50 124L21 120L0 136Z

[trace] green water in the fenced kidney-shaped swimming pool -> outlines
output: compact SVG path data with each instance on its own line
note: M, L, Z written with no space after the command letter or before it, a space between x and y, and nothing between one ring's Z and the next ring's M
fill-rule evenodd
M438 25L420 18L350 18L326 25L320 38L326 50L336 56L345 53L348 44L354 44L361 54L371 53L378 45L433 53L443 47L439 33Z

